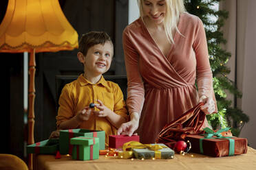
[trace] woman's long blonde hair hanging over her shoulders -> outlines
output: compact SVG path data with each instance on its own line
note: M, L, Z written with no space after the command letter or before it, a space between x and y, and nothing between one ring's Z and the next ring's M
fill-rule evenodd
M143 21L143 8L142 3L143 0L137 0L138 1L138 7L140 9L140 17ZM182 12L185 12L184 8L184 2L183 0L165 0L166 2L166 13L164 16L164 30L165 34L167 34L167 38L170 43L174 44L173 41L173 34L172 31L176 30L179 34L180 31L178 30L178 22L180 19L180 14Z

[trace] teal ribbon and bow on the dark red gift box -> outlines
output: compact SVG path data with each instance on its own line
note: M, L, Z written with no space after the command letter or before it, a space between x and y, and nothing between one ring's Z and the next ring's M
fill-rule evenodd
M229 141L229 151L228 156L233 156L235 154L235 140L232 139L232 136L222 136L222 132L227 132L230 128L226 127L224 129L218 130L217 132L214 132L209 127L204 128L204 138L200 138L200 153L204 154L203 147L202 147L202 141L206 138L226 138ZM213 137L216 136L216 137Z

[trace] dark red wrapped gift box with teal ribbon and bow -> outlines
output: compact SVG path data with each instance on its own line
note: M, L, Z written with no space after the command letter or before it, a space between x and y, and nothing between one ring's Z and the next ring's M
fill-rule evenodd
M222 132L227 132L229 128L211 130L204 128L205 134L187 135L186 140L191 143L191 152L204 154L213 157L235 156L246 154L247 139L235 136L222 136Z

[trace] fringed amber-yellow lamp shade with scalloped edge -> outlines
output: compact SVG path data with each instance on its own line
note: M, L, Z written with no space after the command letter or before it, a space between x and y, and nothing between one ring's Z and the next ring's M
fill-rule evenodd
M78 34L58 0L9 0L0 25L0 52L72 50Z

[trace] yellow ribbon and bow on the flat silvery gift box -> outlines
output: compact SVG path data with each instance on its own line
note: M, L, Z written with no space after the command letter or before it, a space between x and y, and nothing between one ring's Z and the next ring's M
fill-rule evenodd
M160 159L161 158L161 151L160 149L167 148L167 146L163 145L151 145L151 144L142 144L137 141L130 141L122 145L122 150L126 151L127 149L150 149L151 151L155 151L155 158Z

